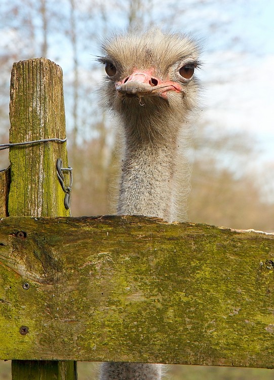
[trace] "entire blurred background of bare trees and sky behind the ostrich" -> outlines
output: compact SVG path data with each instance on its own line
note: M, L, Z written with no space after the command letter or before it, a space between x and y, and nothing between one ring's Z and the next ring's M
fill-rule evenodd
M202 57L205 64L198 72L204 93L199 115L193 123L191 142L189 220L274 231L274 155L265 155L265 140L268 144L271 138L274 141L274 134L267 132L273 121L261 106L270 104L265 86L269 86L273 77L270 75L267 82L263 74L268 67L272 70L274 48L270 46L271 36L267 35L263 18L271 1L262 0L262 3L256 0L114 0L111 3L1 0L1 143L8 141L13 62L41 56L52 59L64 72L68 154L74 176L72 215L114 213L119 138L112 116L99 106L97 90L104 75L96 63L100 40L115 30L135 26L189 31L205 45ZM268 13L271 14L270 10ZM246 27L248 20L250 29ZM262 33L258 32L260 28ZM251 87L253 97L248 94L250 83L254 86ZM250 128L256 118L261 120L257 131ZM268 129L262 128L267 125ZM0 168L8 165L4 151ZM3 365L2 378L10 378L5 369L9 364ZM96 365L80 363L79 368L80 380L96 377ZM173 366L171 373L176 380L213 376L252 380L270 379L272 375L267 370L186 366Z

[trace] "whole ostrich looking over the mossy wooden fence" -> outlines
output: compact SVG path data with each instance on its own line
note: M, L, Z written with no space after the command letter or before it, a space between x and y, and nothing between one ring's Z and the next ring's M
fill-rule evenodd
M183 126L196 105L199 48L182 34L154 29L103 44L102 96L119 117L124 157L118 214L176 218ZM101 380L159 380L159 364L103 363Z

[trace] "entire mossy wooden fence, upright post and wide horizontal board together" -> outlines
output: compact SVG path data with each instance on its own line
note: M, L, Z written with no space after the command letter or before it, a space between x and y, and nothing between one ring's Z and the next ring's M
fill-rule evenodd
M10 119L12 143L58 139L11 146L0 173L0 359L13 380L75 380L79 360L274 368L273 235L69 217L49 60L14 64Z

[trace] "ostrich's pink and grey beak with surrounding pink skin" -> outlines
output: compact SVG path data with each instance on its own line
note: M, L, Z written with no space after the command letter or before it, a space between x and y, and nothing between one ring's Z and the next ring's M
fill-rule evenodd
M148 94L161 96L164 99L168 98L169 91L182 92L182 88L177 82L163 82L152 76L153 71L152 67L145 71L138 71L135 68L129 77L115 83L115 89L121 96L138 97Z

